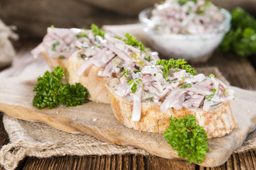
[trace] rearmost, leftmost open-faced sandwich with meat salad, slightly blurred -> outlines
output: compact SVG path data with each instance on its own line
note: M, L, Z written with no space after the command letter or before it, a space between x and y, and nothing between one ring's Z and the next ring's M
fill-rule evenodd
M91 30L79 28L47 28L47 34L31 53L34 57L43 55L51 70L58 65L65 69L65 64L73 52L82 47L90 47L95 43L93 30L97 26L92 24Z

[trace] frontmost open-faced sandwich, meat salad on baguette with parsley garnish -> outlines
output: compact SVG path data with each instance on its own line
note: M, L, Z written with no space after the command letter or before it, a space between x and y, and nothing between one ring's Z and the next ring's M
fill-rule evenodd
M234 91L213 74L195 74L184 60L159 60L141 70L125 68L108 86L112 110L120 123L147 132L166 131L170 118L194 115L208 137L236 128L230 108Z

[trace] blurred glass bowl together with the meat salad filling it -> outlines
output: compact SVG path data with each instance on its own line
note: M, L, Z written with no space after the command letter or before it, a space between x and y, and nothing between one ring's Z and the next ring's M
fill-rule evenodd
M166 58L204 62L230 30L231 16L205 0L166 0L139 13L151 48Z

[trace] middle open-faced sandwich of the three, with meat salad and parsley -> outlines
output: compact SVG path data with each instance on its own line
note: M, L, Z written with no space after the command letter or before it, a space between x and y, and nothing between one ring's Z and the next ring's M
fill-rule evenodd
M95 38L95 45L73 53L65 69L68 83L85 86L92 101L110 103L106 84L110 79L121 77L124 67L142 69L159 60L157 52L145 48L129 33L121 38L101 33Z

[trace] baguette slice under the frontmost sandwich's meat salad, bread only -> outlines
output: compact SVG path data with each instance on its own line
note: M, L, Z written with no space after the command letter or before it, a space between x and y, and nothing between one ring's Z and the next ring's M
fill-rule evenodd
M156 103L145 101L142 102L141 119L138 122L133 122L131 120L133 104L127 98L114 94L114 87L117 84L119 84L119 80L112 79L107 89L110 94L114 116L127 128L163 133L169 127L171 116L181 118L186 115L194 115L198 125L203 126L209 138L222 137L237 127L235 117L230 108L230 102L213 106L210 111L203 111L201 108L181 108L180 110L169 108L166 113L163 113Z

